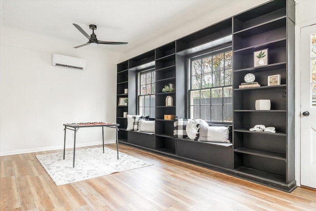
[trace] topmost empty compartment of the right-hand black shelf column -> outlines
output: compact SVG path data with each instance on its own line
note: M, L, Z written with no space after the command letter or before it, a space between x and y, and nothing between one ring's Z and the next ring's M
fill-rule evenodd
M234 32L244 30L286 15L285 1L271 1L234 17Z

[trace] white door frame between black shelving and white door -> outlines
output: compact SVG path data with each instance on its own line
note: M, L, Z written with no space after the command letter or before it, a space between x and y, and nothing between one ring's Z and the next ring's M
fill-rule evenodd
M295 25L295 180L301 186L301 29L316 19Z

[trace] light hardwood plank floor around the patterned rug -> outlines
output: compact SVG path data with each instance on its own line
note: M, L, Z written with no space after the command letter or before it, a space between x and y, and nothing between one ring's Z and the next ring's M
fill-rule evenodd
M316 211L313 190L297 188L289 194L125 145L119 148L154 166L56 186L35 155L57 151L0 157L1 211Z

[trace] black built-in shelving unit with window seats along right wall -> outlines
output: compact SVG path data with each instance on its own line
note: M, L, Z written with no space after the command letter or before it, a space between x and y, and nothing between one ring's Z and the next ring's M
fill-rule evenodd
M294 178L294 0L271 0L201 29L174 42L118 64L117 106L120 143L184 160L237 177L292 191ZM173 120L186 118L185 57L210 49L233 49L233 146L173 137ZM268 64L254 66L254 52L268 48ZM122 112L137 114L137 72L155 68L155 134L126 131ZM252 73L260 87L239 88ZM280 85L268 85L268 76L280 75ZM162 92L173 84L172 92ZM128 94L124 88L128 87ZM165 99L171 96L172 106ZM255 110L255 101L270 99L271 110ZM250 131L255 125L275 127L276 133Z

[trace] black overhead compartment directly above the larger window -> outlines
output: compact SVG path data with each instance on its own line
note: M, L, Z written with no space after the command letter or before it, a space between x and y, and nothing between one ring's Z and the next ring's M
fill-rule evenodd
M220 40L221 38L225 38L231 34L232 34L232 18L229 18L220 23L214 24L212 26L209 26L198 32L195 32L191 35L188 35L184 38L177 40L176 52L179 53L180 51L185 51L187 49L194 48L203 44L207 45L207 43L209 42ZM223 42L222 44L227 43L227 42L231 42L231 41L227 40ZM210 46L205 46L205 47L209 48ZM202 48L205 48L205 47L202 47ZM203 49L198 49L198 50L203 50ZM188 53L193 53L193 50L191 51L192 52L188 52ZM183 53L184 55L186 54L186 52L182 52L180 53L180 55L182 55Z

